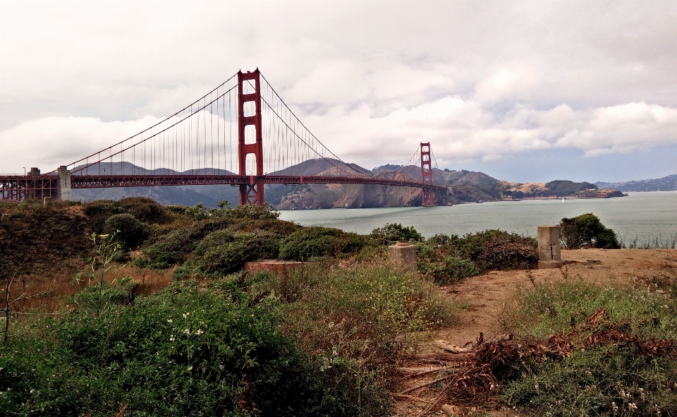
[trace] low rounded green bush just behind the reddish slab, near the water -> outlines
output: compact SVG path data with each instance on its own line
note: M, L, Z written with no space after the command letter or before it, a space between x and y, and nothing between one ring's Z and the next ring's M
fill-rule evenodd
M280 258L305 261L340 253L353 253L367 245L364 236L339 229L312 226L299 229L280 243Z

